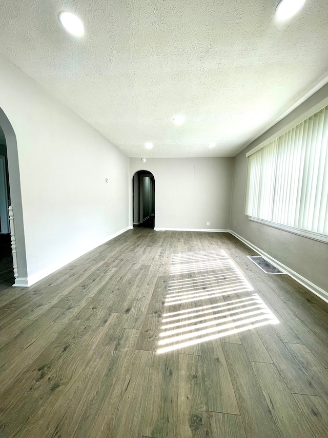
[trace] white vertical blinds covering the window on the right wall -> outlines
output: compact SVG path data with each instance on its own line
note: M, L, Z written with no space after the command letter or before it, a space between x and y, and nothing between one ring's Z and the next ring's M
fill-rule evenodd
M328 106L248 157L245 214L328 235Z

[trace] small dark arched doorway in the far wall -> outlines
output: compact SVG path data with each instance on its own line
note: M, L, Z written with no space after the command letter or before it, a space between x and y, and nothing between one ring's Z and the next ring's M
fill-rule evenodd
M132 179L133 227L154 229L155 178L148 170L138 170Z

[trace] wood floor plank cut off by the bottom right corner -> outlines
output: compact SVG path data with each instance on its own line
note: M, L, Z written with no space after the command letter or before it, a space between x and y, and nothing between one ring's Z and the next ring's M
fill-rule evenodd
M328 436L328 405L315 395L293 394L316 438Z

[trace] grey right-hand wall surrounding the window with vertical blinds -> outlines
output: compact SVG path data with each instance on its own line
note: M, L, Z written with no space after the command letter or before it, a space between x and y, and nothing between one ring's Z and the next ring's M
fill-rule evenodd
M252 222L243 214L243 208L247 172L246 153L263 142L270 142L327 104L328 85L235 157L231 210L232 231L326 292L328 244Z

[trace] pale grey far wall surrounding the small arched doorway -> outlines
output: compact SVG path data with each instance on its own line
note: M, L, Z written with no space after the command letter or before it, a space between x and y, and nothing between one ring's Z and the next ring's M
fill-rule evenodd
M155 178L155 227L229 230L233 158L130 158L131 193L141 169Z

